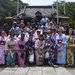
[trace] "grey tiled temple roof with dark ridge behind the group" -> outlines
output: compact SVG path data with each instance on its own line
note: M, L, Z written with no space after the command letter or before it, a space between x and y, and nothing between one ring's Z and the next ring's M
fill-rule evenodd
M52 13L56 13L56 8L52 6L26 6L24 13L27 17L35 16L36 12L40 12L42 15L51 16Z

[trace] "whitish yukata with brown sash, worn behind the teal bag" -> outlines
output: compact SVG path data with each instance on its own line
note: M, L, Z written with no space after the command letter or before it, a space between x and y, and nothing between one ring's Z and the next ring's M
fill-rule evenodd
M9 61L9 59L6 57L6 61L8 64L13 64L15 63L15 44L16 44L16 41L15 40L11 40L11 39L8 39L6 41L6 51L9 50L9 52L7 53L7 56L10 55L12 58L11 60L13 60L13 62Z

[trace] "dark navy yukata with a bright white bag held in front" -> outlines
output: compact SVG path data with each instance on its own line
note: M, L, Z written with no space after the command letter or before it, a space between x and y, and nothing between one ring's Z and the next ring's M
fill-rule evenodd
M29 54L29 52L31 52L31 54ZM30 61L31 56L33 56L32 61ZM33 40L26 42L26 61L29 65L35 64L35 42Z

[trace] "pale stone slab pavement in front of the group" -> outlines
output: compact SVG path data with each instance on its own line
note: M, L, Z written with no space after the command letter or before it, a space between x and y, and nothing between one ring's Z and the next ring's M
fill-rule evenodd
M75 75L75 72L64 67L6 67L0 68L0 75Z

